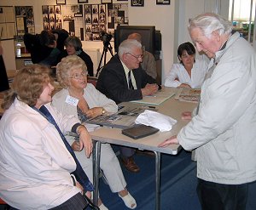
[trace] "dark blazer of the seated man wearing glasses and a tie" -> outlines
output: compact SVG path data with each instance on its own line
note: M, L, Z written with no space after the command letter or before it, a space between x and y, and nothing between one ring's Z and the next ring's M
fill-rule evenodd
M96 88L117 104L124 101L143 99L141 88L144 88L147 83L156 83L156 81L141 67L132 70L132 72L137 83L137 89L134 90L128 88L124 67L118 54L115 54L108 61L108 64L102 68Z

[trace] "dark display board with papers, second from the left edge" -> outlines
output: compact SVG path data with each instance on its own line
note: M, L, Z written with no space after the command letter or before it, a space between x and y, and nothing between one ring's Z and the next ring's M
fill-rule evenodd
M34 13L32 6L15 6L17 36L26 32L35 33Z

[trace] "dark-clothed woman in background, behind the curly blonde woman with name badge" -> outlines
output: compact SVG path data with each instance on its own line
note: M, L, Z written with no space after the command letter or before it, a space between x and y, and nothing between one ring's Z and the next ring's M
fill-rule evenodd
M67 55L78 55L82 60L84 60L85 65L87 66L87 71L90 77L93 77L93 63L90 59L90 55L86 54L82 48L82 42L79 37L71 36L67 37L65 40L65 47L61 54L58 56L58 62L61 62L61 59L66 57Z

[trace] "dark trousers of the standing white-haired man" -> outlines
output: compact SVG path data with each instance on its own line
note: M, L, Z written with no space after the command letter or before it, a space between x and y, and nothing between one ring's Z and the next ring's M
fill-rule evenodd
M248 184L218 184L198 179L202 210L246 210Z

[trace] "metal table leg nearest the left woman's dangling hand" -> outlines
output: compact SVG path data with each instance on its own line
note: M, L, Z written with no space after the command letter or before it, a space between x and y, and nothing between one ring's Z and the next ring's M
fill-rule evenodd
M93 141L93 185L94 185L94 195L93 203L98 205L98 196L99 196L99 174L100 174L100 159L101 159L101 146L100 141Z

